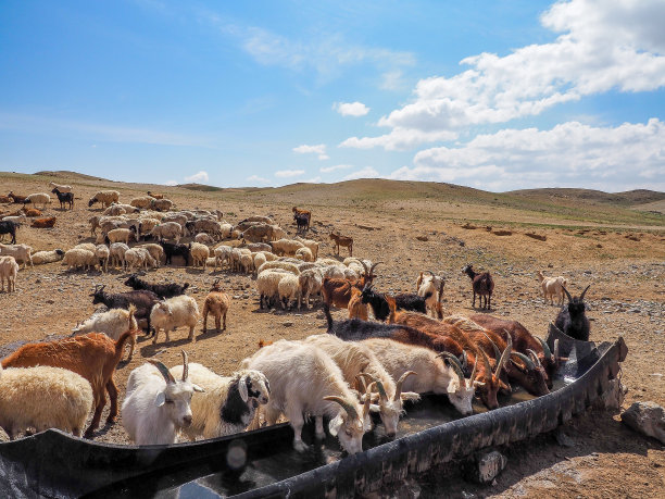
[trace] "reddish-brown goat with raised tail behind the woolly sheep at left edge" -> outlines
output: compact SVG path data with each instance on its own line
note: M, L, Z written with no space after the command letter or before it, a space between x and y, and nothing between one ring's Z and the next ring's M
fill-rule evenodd
M2 361L2 367L50 365L67 369L85 377L92 387L95 398L92 422L84 435L85 438L91 438L106 406L104 389L111 398L106 424L113 423L117 416L117 387L113 374L123 357L125 344L128 340L135 342L137 333L136 329L126 330L117 341L103 333L88 333L58 341L24 345Z

